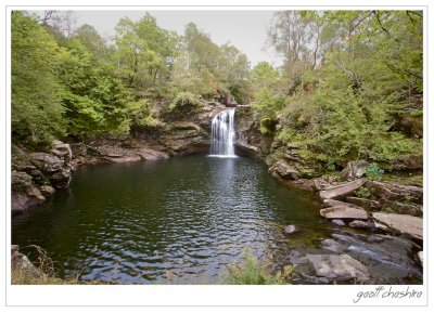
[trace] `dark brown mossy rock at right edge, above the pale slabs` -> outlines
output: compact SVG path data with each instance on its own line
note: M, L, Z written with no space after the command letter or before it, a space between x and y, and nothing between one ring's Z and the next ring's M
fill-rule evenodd
M368 182L367 186L382 200L404 200L418 205L423 204L422 187L390 184L376 181Z

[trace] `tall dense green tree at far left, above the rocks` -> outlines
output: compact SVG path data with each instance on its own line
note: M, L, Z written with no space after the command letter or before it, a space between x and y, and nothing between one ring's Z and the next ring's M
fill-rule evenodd
M63 51L23 12L12 12L11 35L12 140L47 144L66 132L59 81Z

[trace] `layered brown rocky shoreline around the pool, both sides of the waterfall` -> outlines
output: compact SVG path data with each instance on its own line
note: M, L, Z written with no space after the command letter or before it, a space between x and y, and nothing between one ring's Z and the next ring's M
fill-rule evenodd
M220 103L206 103L197 115L171 120L157 133L137 130L133 135L86 143L54 141L52 149L43 153L18 149L12 162L12 214L42 204L56 190L67 188L73 171L81 165L153 161L205 153L209 148L210 120L225 108ZM404 258L399 253L406 249L413 257L405 260L405 269L414 271L413 265L423 264L422 187L367 180L365 160L348 162L340 179L331 177L299 147L273 146L272 138L258 131L248 105L237 107L235 122L238 147L261 158L279 180L317 193L321 199L319 214L336 230L333 238L322 240L320 252L293 251L289 262L301 265L298 275L308 278L306 273L315 273L315 284L368 282L370 273L363 262L371 258L369 262L399 268ZM297 225L291 226L290 236L298 231ZM397 240L404 250L387 252Z

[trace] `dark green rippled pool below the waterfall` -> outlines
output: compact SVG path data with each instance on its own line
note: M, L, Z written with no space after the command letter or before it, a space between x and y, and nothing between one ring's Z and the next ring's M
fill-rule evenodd
M330 234L311 193L288 190L257 160L189 156L79 168L71 190L13 219L12 243L49 251L61 275L135 283L218 283L226 265ZM285 237L288 224L299 233ZM35 256L30 253L30 258Z

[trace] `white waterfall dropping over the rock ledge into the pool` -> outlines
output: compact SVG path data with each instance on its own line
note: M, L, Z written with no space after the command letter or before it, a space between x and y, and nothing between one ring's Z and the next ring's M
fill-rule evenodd
M233 151L235 141L234 113L234 108L228 108L213 118L209 156L237 157Z

